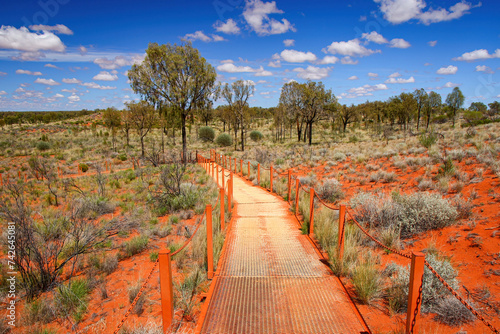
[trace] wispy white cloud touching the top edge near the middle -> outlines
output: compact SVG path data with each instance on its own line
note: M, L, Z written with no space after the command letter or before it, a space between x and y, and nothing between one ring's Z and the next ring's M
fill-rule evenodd
M283 14L276 7L276 2L263 2L260 0L249 0L245 4L243 17L248 25L259 36L284 34L288 31L296 31L293 24L287 19L281 22L269 17L269 14Z

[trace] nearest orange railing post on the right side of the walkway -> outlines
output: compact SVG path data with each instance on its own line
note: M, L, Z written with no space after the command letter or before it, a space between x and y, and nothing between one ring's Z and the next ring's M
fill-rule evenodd
M411 255L408 311L406 313L406 334L418 333L420 306L422 305L422 284L424 277L424 268L424 253L413 252Z

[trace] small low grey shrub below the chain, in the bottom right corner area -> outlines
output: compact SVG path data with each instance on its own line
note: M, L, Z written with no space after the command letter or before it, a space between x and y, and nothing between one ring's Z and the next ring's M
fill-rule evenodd
M434 319L448 326L461 326L476 320L474 314L454 296L441 299L434 307L434 312Z

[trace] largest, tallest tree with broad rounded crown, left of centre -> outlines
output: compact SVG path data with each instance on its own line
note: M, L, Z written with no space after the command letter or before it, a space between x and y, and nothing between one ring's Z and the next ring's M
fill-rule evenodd
M183 160L187 157L186 120L210 99L217 73L191 43L151 43L146 58L128 72L134 92L155 96L173 108L181 119Z

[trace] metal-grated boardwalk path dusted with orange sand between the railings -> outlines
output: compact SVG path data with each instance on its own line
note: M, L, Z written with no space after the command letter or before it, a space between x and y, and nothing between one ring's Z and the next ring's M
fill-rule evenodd
M236 176L233 188L236 216L201 332L368 332L288 204Z

